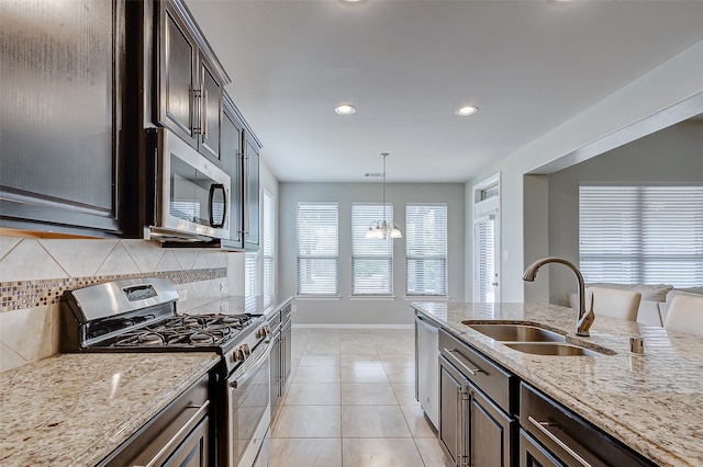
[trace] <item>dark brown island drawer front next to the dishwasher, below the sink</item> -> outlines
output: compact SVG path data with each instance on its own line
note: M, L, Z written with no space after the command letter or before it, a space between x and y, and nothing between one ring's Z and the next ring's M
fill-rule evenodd
M509 414L516 412L511 386L517 379L466 343L439 330L439 352Z

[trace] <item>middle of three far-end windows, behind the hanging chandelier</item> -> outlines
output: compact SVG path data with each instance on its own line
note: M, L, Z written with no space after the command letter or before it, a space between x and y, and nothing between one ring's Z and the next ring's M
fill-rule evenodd
M366 238L371 223L393 218L393 205L352 205L352 295L393 293L393 239ZM392 223L392 220L391 220Z

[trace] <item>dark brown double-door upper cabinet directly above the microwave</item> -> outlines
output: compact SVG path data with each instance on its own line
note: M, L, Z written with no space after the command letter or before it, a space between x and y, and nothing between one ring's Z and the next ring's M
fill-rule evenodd
M223 89L230 78L186 5L158 5L156 124L221 164Z

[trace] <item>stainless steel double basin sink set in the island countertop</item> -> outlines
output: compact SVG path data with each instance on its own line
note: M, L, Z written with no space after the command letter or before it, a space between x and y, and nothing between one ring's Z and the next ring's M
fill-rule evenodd
M566 341L566 337L534 324L464 322L513 350L537 355L600 356L600 352Z

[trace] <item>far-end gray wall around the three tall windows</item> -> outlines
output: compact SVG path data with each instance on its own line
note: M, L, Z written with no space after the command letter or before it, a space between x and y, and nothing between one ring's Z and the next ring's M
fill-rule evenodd
M352 203L380 202L380 183L287 183L279 184L279 293L297 292L295 213L298 202L339 203L339 299L295 300L297 324L399 326L412 324L413 312L405 291L405 240L393 240L394 299L352 299ZM389 183L387 202L393 203L394 220L405 231L405 203L447 203L448 293L464 301L464 184Z

